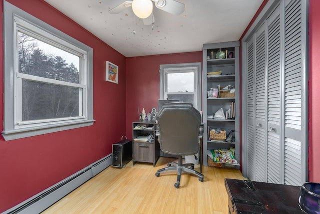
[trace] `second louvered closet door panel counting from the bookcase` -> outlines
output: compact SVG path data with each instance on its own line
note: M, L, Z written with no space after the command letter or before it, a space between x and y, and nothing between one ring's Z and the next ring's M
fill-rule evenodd
M255 181L266 176L265 25L255 33Z

